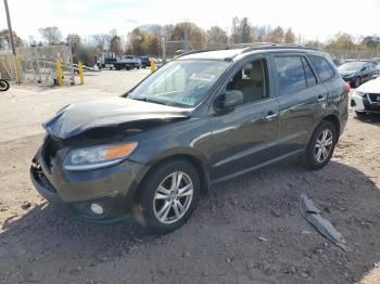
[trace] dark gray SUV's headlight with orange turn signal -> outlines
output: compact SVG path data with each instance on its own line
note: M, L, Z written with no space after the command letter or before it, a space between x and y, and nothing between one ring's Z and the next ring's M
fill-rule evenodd
M73 149L68 152L63 167L66 170L89 170L115 165L127 158L138 142L98 145Z

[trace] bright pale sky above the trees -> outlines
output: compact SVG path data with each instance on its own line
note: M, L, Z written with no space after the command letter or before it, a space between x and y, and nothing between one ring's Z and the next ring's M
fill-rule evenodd
M38 28L56 26L64 37L86 38L116 28L126 36L147 24L189 21L203 28L230 30L233 16L252 25L291 27L304 39L328 40L340 31L380 35L380 0L8 0L13 30L23 39L40 40ZM2 1L0 29L7 28Z

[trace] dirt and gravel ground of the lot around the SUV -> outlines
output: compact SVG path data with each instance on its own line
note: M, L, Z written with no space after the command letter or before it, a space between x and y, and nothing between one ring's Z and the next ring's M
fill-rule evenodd
M351 113L321 170L291 160L214 186L165 236L131 220L73 220L41 198L28 177L40 124L69 102L118 95L147 74L102 72L81 87L12 86L0 95L0 283L380 283L380 117ZM302 192L350 253L301 217Z

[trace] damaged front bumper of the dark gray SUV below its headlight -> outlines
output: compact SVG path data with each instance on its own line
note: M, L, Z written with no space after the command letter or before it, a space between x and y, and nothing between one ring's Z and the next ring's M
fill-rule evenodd
M109 223L129 216L139 182L147 171L144 165L125 160L119 165L89 171L66 171L45 163L41 150L30 167L30 180L41 196L64 205L86 221ZM101 206L97 214L91 205Z

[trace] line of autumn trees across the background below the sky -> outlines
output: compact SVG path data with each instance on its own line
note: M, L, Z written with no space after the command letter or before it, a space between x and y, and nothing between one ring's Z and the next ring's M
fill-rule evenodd
M77 34L69 34L63 38L58 27L41 27L38 31L43 41L36 42L29 39L29 42L26 42L16 33L13 33L15 46L68 44L72 48L74 59L81 57L87 65L92 65L96 56L103 51L114 52L117 55L162 56L165 46L168 54L173 54L175 49L182 49L186 31L190 49L226 48L250 42L297 43L327 51L378 51L380 49L380 37L376 35L354 37L347 33L339 33L325 42L317 39L303 40L301 36L295 36L291 27L255 26L248 17L233 17L229 29L219 26L203 29L194 23L177 23L165 26L144 25L136 27L126 36L122 36L116 29L113 29L107 34L91 35L85 39ZM7 47L10 47L10 35L7 29L3 29L0 31L0 49Z

